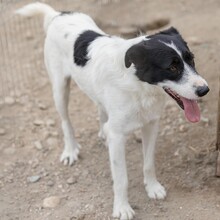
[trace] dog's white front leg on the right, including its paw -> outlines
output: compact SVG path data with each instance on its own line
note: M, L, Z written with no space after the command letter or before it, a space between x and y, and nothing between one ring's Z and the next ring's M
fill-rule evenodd
M166 191L155 174L154 153L158 130L159 120L151 121L142 128L144 184L148 196L153 199L163 199L166 196Z

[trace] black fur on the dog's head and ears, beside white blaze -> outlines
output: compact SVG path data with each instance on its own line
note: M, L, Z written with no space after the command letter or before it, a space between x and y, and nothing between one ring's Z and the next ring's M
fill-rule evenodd
M194 68L191 62L192 53L175 28L147 38L149 40L135 44L125 54L125 66L129 68L133 63L136 75L141 81L157 84L165 80L181 79L184 71L183 60L174 49L164 43L173 42L182 52L185 62Z

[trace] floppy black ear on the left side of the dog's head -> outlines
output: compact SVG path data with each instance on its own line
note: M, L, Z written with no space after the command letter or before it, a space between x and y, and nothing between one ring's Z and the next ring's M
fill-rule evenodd
M144 45L135 44L130 47L125 54L125 66L129 68L133 63L136 65L143 65L146 60L146 48Z

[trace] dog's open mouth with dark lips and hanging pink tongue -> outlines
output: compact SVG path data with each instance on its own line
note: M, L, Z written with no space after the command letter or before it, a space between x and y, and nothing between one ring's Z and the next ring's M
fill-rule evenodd
M180 108L184 110L185 117L190 122L195 123L200 121L200 110L196 100L184 98L168 87L163 87L163 89L168 95L170 95L177 102Z

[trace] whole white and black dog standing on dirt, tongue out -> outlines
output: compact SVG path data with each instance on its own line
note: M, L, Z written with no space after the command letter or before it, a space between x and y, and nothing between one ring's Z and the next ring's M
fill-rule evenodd
M179 32L170 28L125 40L107 35L82 13L57 12L42 3L16 12L44 15L45 64L64 134L61 162L72 165L79 154L68 115L70 80L74 79L99 110L99 136L106 139L114 181L113 216L134 217L127 196L125 141L135 129L142 131L146 191L150 198L163 199L166 191L156 179L154 149L166 93L189 121L197 122L196 100L209 91Z

